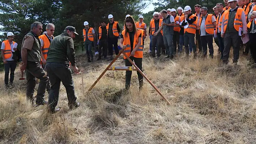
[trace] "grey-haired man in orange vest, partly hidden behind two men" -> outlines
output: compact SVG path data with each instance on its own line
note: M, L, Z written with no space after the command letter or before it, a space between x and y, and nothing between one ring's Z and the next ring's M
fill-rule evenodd
M40 47L40 52L41 52L41 64L44 70L45 69L45 64L46 64L46 58L47 58L47 53L48 49L50 47L51 41L54 38L53 34L55 31L55 26L52 23L48 23L46 25L46 34L40 35L38 38L40 39L41 42L41 47ZM46 86L46 91L48 94L50 93L50 80L48 80L47 86Z

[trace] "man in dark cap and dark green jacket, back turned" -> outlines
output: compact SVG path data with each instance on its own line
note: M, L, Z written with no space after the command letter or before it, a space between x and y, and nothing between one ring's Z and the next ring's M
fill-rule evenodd
M66 88L69 108L77 108L80 105L79 102L76 102L74 82L71 75L72 71L69 68L70 61L75 73L79 72L76 67L73 42L73 38L75 38L76 35L78 35L76 28L67 26L64 32L56 36L51 42L46 63L46 71L51 82L48 100L48 110L50 113L55 113L60 110L59 108L55 109L59 99L60 82L62 82Z

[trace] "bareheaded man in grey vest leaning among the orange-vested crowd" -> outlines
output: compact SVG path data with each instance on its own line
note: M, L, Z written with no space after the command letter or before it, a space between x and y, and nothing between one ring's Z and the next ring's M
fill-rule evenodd
M174 33L174 17L167 14L165 9L161 10L160 12L163 16L162 25L159 27L157 32L154 33L154 36L157 36L158 33L163 29L163 41L166 47L166 58L173 58L174 57L174 47L172 43L173 33Z

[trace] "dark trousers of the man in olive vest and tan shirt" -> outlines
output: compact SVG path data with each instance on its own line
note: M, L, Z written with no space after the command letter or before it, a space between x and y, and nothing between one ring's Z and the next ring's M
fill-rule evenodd
M33 95L35 91L35 78L40 79L40 83L37 90L37 100L36 104L43 104L44 94L46 91L46 86L48 82L48 77L43 70L43 67L39 62L27 61L26 67L26 79L27 79L27 91L26 96L28 100L33 100Z

